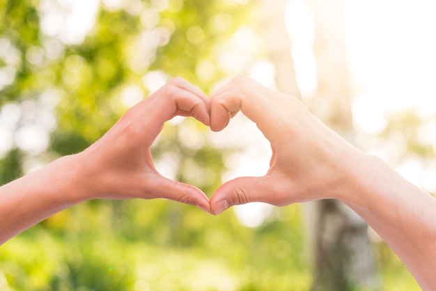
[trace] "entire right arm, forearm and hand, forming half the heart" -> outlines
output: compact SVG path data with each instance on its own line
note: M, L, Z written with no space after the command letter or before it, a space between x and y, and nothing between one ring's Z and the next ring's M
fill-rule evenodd
M254 201L342 200L383 237L423 290L435 290L435 198L344 141L295 97L240 76L211 96L211 129L223 129L238 111L270 141L270 169L219 187L210 199L212 213Z

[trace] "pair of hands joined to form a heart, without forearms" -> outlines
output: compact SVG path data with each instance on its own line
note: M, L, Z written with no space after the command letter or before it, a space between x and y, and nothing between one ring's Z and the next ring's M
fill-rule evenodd
M196 187L169 180L156 171L150 147L166 120L193 116L217 132L238 111L254 121L270 141L272 159L265 176L228 181L209 200ZM210 98L176 78L132 107L99 141L79 154L86 188L81 193L87 195L84 200L167 198L212 214L254 201L283 206L334 197L344 178L341 173L345 173L336 162L345 148L350 148L348 143L295 97L271 91L249 77L236 77Z

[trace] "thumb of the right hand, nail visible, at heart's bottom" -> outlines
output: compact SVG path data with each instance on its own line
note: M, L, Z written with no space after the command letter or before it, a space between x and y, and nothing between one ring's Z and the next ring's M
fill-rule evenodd
M218 215L228 207L250 202L267 202L267 176L240 177L221 185L210 198L210 210Z

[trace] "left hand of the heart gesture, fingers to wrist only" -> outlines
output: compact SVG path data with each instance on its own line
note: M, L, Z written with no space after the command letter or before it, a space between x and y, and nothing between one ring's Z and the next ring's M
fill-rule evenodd
M166 120L193 116L209 125L210 100L181 78L132 107L100 140L81 152L84 195L91 198L167 198L210 210L194 186L169 180L153 164L150 147ZM88 196L84 198L87 200Z

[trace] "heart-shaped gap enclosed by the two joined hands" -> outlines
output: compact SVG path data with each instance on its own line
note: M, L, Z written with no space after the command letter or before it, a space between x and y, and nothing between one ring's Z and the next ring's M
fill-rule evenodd
M153 144L153 161L164 177L212 193L217 179L227 182L267 172L270 143L256 124L242 114L235 116L220 132L204 130L194 118L173 118L169 123ZM226 173L221 174L223 168Z

